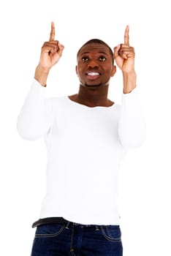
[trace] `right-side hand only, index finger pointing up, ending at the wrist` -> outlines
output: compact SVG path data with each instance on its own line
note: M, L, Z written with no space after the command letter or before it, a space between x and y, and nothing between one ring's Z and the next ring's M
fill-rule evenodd
M129 26L126 26L124 43L114 48L114 59L122 72L134 71L134 48L129 46Z

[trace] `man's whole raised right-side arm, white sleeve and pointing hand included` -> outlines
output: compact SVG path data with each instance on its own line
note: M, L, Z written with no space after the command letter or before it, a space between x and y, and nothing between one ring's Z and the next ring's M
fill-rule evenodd
M145 141L146 126L137 95L134 71L134 48L129 46L129 26L126 26L124 43L114 48L115 62L123 73L123 98L118 134L123 146L134 148Z

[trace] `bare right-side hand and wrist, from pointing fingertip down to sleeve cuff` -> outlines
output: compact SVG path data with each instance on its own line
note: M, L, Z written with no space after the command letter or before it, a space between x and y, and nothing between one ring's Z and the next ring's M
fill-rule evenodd
M127 94L136 87L136 73L134 71L134 48L129 46L129 26L126 26L124 44L114 48L114 59L123 72L123 93Z

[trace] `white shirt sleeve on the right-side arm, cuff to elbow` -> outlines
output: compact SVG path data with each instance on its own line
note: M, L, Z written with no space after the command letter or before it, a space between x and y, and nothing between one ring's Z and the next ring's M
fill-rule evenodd
M146 124L137 88L122 96L118 134L121 144L126 148L139 147L145 141Z

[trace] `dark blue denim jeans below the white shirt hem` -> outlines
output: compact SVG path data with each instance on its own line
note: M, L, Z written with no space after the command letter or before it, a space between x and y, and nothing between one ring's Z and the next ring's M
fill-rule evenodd
M48 224L37 227L31 256L122 256L118 225Z

